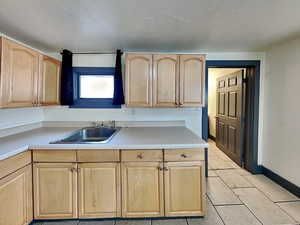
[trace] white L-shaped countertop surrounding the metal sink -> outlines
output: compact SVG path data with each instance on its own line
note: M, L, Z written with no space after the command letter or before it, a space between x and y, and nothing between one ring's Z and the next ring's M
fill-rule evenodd
M122 128L108 143L49 144L80 128L43 127L0 138L0 160L27 149L176 149L207 148L208 144L185 127Z

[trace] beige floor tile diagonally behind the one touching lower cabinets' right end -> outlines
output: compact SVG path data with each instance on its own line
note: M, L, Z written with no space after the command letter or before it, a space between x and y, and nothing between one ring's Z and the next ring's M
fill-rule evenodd
M241 176L237 169L230 170L216 170L216 174L227 184L230 188L253 187L254 185Z

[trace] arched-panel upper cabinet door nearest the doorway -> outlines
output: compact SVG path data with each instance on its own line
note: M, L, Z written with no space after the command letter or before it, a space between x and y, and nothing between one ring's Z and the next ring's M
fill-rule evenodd
M197 107L204 105L204 55L180 56L180 105Z

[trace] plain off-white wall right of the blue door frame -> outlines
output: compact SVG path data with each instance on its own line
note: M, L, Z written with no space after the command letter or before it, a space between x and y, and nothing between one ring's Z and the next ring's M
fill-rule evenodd
M300 39L267 51L262 164L300 186Z

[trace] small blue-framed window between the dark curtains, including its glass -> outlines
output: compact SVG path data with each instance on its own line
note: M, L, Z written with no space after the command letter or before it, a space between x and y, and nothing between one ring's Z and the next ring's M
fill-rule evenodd
M74 67L72 108L121 108L113 105L114 67Z

